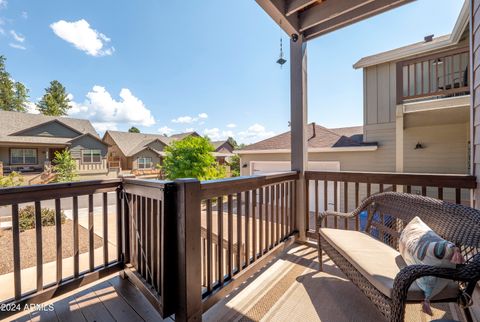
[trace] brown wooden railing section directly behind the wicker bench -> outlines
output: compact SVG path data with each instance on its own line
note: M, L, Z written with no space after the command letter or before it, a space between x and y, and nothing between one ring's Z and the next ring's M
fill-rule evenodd
M306 233L313 239L316 219L322 211L350 212L368 196L386 191L399 191L429 196L453 203L470 205L470 192L476 179L470 175L435 175L408 173L321 172L306 171ZM363 230L366 216L338 221L326 218L325 226Z

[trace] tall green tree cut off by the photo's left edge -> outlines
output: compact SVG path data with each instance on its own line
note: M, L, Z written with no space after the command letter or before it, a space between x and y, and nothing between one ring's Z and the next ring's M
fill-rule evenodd
M25 112L28 89L10 77L5 67L5 56L0 56L0 110Z

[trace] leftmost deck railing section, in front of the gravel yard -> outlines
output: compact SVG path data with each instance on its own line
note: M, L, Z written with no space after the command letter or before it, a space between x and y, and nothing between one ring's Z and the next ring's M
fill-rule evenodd
M112 219L109 219L108 213L109 197L114 199L113 204L118 205L121 183L121 180L115 179L0 189L0 210L3 216L9 214L8 217L11 219L11 230L8 233L11 234L12 249L10 251L13 253L13 269L10 273L13 276L2 276L4 278L3 292L9 290L12 292L6 298L2 298L2 304L41 303L54 295L72 290L122 268L118 265L122 259L121 248L111 246L111 243L121 245L123 242L120 213L114 211L111 214ZM98 241L95 241L94 229L98 229L98 227L94 227L94 197L99 205L97 208L101 209L100 213L97 209L95 218L97 218L97 222L101 222L102 233L99 234L103 235L101 239L103 251L97 252L96 255L94 246L98 244ZM81 207L79 200L82 203ZM27 206L30 207L30 213L33 211L33 215L23 214ZM82 224L79 222L79 210L82 210ZM48 232L44 232L46 227L42 222L45 220L43 214L45 211L53 211L55 214L54 230L48 230ZM73 245L66 245L64 241L66 230L63 229L62 222L65 221L66 212L69 213L67 217L71 221L73 230L69 232L69 240ZM33 244L28 241L21 243L20 240L20 228L28 221L33 221L35 232ZM80 235L80 232L84 233ZM5 231L4 234L7 232ZM109 234L115 239L114 241L109 241ZM51 263L47 263L47 258L44 260L44 255L48 255L44 254L45 248L51 246L46 245L46 241L55 242L53 256L55 265L53 267L49 266ZM87 245L84 247L83 253L80 247L81 241ZM21 244L25 248L22 248ZM72 255L69 258L64 258L62 253L66 247L72 249ZM109 250L116 253L110 254ZM7 253L8 250L2 250L2 256L10 255ZM22 253L34 254L35 265L33 267L22 269L22 262L29 260L22 256ZM33 283L32 278L26 276L25 270L28 269L34 270ZM13 282L13 288L9 287L6 283L7 280ZM0 311L0 319L6 313L9 312Z

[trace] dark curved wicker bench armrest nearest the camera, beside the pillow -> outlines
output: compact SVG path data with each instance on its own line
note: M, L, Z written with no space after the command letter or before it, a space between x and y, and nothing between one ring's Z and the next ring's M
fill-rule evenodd
M467 264L457 265L456 268L430 265L409 265L404 267L393 282L392 301L394 306L403 305L407 299L410 285L418 278L424 276L435 276L461 282L476 282L480 279L480 253L475 255Z

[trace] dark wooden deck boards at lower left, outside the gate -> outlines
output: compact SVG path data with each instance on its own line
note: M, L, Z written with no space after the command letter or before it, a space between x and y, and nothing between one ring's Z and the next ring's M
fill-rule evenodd
M164 321L140 291L118 274L45 304L52 304L54 310L25 311L9 321Z

